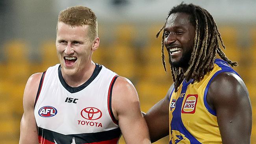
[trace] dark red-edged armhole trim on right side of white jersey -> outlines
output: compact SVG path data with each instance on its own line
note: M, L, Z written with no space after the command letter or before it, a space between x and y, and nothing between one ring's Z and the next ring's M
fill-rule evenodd
M108 113L112 119L112 121L118 125L118 121L115 119L115 116L113 114L113 111L112 111L112 107L111 107L111 99L112 99L112 90L113 90L113 86L114 86L114 83L117 79L117 77L119 77L118 75L114 76L114 78L112 79L110 85L109 85L109 89L108 89Z

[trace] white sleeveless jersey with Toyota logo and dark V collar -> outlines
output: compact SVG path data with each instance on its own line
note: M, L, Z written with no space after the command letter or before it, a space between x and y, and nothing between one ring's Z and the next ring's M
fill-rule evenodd
M40 144L117 144L121 131L111 109L117 74L102 65L83 85L70 87L61 66L43 73L35 99Z

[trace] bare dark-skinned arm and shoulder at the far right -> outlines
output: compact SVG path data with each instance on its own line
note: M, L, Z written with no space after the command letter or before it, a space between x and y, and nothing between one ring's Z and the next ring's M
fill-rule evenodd
M224 72L210 84L207 102L217 114L223 144L249 144L252 107L245 83L236 74Z

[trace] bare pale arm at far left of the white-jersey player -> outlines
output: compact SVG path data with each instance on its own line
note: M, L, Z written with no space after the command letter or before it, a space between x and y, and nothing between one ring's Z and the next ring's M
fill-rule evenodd
M34 102L42 73L33 74L24 90L24 114L20 122L19 144L38 144L38 132L34 116Z

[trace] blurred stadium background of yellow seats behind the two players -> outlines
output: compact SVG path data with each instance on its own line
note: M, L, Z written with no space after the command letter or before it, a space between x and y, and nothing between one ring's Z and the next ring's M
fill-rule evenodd
M256 144L256 1L184 0L215 18L226 55L239 63L252 103L252 144ZM93 61L129 78L147 112L173 83L161 63L155 35L180 0L0 0L0 143L17 144L26 81L58 63L55 39L59 11L82 5L98 18L100 48ZM166 53L167 54L167 53ZM167 55L166 55L167 56ZM167 60L167 59L166 59ZM168 60L167 60L168 61ZM165 137L156 144L167 144ZM120 144L124 144L121 138Z

